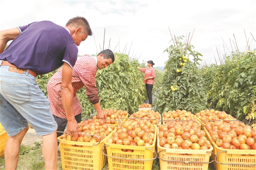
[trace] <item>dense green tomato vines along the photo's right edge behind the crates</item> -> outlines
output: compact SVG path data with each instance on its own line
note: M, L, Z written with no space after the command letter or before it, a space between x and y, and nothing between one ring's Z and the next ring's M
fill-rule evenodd
M202 74L209 89L207 97L216 110L223 110L242 120L251 113L256 97L255 53L232 52L224 64L203 68Z

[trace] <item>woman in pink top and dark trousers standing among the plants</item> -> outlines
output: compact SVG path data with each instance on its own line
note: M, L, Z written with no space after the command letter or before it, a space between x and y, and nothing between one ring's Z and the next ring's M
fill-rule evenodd
M144 75L144 83L146 84L146 91L149 98L149 104L152 105L152 89L154 85L154 79L156 78L156 72L153 68L155 63L152 60L148 61L148 68L139 68L138 69L145 73Z

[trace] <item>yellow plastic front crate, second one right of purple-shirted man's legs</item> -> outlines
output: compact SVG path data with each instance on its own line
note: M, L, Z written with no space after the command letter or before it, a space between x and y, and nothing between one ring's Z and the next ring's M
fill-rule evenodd
M117 130L114 130L117 131ZM107 139L110 138L107 137ZM130 146L113 143L105 143L107 150L107 160L109 170L151 170L153 161L157 157L155 150L157 138L157 128L153 144L150 146ZM107 140L106 139L106 140ZM103 147L102 147L103 148ZM122 149L131 149L133 152L122 151ZM103 152L103 150L102 150ZM105 153L103 153L105 155Z

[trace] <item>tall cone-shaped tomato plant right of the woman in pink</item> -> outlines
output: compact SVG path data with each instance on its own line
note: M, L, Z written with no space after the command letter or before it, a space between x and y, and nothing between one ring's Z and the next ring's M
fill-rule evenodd
M182 43L183 37L178 37L176 45L164 50L169 59L165 62L162 85L155 97L155 110L160 113L176 109L196 113L207 108L204 81L197 67L198 60L201 60L199 56L202 55L192 51L192 45ZM185 65L181 66L180 63ZM173 91L171 86L177 90Z

